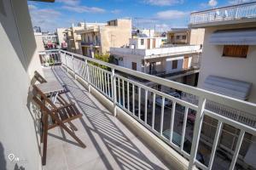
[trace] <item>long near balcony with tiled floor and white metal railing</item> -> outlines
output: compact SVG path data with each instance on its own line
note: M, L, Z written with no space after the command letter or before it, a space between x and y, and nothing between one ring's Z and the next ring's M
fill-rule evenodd
M44 69L45 76L67 84L70 89L67 97L84 113L84 118L75 125L88 148L79 148L61 129L51 132L46 169L90 166L98 169L234 169L251 166L247 157L255 153L255 127L210 110L206 104L212 101L254 115L255 104L67 51L42 54L50 53L58 53L61 66ZM125 74L195 95L198 102L190 103L148 88ZM207 131L205 125L209 118L216 127ZM230 136L230 128L236 130L233 136ZM211 133L212 140L206 141L206 131ZM225 139L226 136L230 139ZM222 147L229 142L231 148Z

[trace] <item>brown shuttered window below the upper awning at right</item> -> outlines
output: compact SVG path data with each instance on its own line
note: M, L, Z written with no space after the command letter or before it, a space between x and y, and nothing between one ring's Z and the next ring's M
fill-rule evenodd
M247 45L224 45L223 57L247 58Z

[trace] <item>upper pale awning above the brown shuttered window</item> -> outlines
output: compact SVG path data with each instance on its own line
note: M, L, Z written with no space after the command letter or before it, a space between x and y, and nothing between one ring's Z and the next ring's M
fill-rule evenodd
M215 31L209 42L213 45L256 45L256 28Z

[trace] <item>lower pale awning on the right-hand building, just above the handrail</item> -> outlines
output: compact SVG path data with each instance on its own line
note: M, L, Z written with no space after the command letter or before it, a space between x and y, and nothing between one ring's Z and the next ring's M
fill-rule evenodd
M208 76L204 82L204 88L209 91L242 100L248 99L251 87L250 82L212 75Z

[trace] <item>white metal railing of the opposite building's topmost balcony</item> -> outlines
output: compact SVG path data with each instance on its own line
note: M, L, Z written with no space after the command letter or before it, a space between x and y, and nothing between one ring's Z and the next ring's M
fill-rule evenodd
M256 17L256 2L242 3L223 8L213 8L190 14L190 24L210 23L222 20L240 20Z

